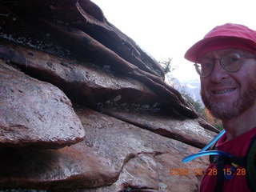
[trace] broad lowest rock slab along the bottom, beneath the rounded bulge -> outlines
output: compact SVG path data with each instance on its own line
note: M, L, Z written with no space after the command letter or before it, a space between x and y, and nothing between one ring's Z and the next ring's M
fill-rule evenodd
M85 141L60 150L34 147L1 150L5 158L0 159L0 186L35 189L47 186L51 191L106 186L79 191L122 191L129 184L130 188L142 191L158 188L168 191L164 190L166 186L174 187L172 180L179 179L177 175L170 175L170 169L185 169L192 164L193 169L206 168L205 159L200 164L193 162L186 166L180 162L186 154L198 150L193 146L94 110L77 110L77 113L89 135ZM159 177L166 178L166 182ZM196 175L183 177L194 184L181 182L181 185L188 189L186 191L194 191L189 188L196 186Z

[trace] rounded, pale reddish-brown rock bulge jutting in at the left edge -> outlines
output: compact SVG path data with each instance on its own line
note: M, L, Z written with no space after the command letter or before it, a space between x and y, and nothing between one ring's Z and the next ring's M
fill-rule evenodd
M0 60L0 146L58 148L81 142L84 130L57 87Z

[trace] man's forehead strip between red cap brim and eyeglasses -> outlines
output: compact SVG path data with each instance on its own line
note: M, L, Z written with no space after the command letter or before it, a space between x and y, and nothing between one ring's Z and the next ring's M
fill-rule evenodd
M243 50L239 48L227 48L227 49L221 49L221 50L211 50L206 54L203 54L202 57L199 58L198 60L201 60L202 58L218 58L218 57L222 57L225 54L229 54L230 52L235 52L238 54L254 55L254 53L248 50Z

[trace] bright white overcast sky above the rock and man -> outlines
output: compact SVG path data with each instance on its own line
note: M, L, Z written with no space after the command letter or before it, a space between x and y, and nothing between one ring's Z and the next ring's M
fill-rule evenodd
M157 61L172 58L180 80L198 78L186 50L227 22L256 30L255 0L92 0L106 19Z

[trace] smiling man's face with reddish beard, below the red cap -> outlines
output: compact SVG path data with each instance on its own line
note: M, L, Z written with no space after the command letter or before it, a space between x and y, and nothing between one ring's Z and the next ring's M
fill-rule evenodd
M237 72L228 72L220 65L220 58L230 51L248 56L254 54L239 49L214 50L202 58L214 59L214 69L201 79L201 96L206 108L216 118L238 117L256 105L256 59L242 58L242 66Z

